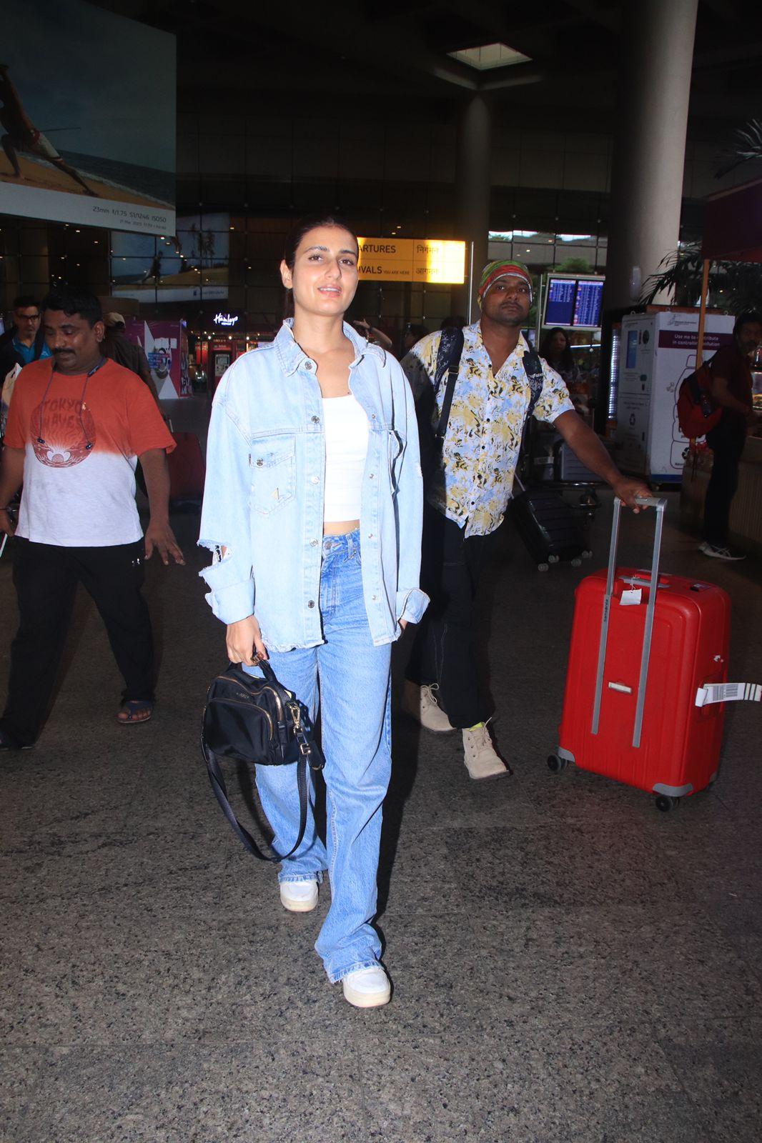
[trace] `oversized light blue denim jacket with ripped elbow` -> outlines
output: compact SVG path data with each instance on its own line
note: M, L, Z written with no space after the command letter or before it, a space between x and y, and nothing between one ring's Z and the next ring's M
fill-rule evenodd
M256 615L272 650L323 642L320 561L325 435L316 363L285 321L272 344L240 357L214 398L199 544L223 623ZM423 481L418 425L399 363L351 326L349 387L368 419L360 501L363 589L376 645L420 622ZM225 549L222 557L221 549Z

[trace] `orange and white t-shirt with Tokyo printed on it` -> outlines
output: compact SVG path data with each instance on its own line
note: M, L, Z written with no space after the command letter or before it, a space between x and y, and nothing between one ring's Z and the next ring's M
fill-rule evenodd
M5 442L25 451L16 535L62 547L140 539L137 457L175 447L140 377L108 359L89 376L58 373L50 359L22 369Z

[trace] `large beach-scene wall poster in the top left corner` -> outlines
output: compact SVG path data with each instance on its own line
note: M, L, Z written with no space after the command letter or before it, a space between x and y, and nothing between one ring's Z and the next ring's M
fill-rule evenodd
M10 5L0 213L173 234L175 43L82 0Z

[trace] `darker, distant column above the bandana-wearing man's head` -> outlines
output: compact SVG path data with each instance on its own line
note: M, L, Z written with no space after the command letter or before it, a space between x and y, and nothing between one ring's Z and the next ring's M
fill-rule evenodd
M463 106L458 125L458 234L466 240L467 285L454 290L455 311L468 318L468 262L474 242L474 295L471 320L476 321L476 286L487 261L490 191L492 187L492 102L489 95L474 95Z

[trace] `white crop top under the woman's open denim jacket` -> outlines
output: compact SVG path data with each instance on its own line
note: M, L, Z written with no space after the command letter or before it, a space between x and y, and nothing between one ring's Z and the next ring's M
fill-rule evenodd
M325 426L325 507L323 520L359 520L367 454L367 416L359 401L323 398Z

